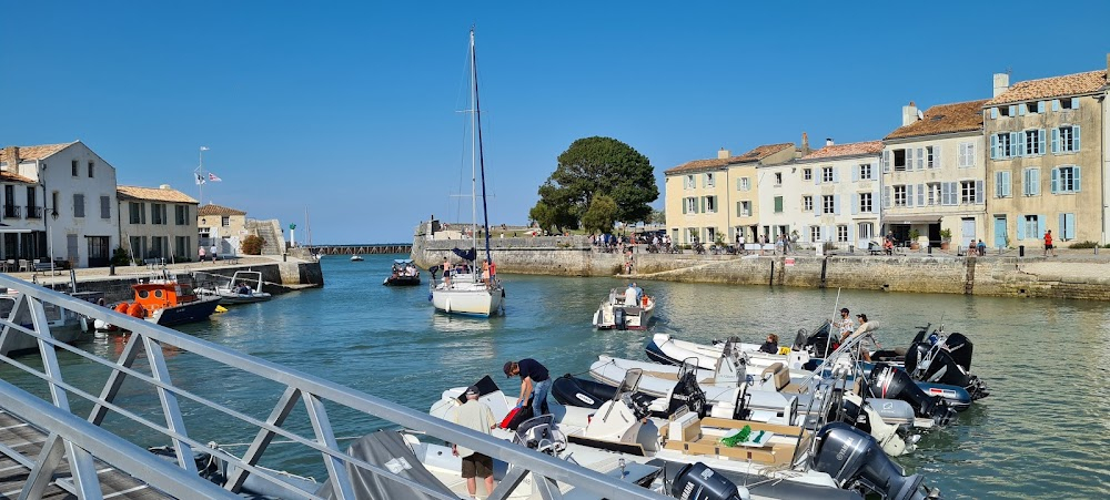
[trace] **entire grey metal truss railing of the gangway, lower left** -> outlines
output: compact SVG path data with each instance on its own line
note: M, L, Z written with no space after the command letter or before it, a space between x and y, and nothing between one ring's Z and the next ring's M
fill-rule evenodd
M303 374L281 365L244 355L242 353L211 344L196 337L172 330L150 322L137 319L115 313L105 307L74 298L72 296L42 288L23 280L0 274L0 286L7 286L16 293L16 303L6 318L0 318L0 347L10 346L18 337L34 338L36 348L41 357L41 368L32 367L28 357L13 357L8 351L0 351L0 361L7 364L0 368L11 367L31 376L31 380L46 382L49 402L36 396L30 382L21 387L12 379L28 378L4 377L0 381L0 398L6 410L27 420L32 426L46 429L49 438L41 453L34 457L11 457L31 468L30 477L23 486L21 498L34 498L41 492L58 472L61 460L68 460L72 472L72 481L58 481L60 487L71 489L81 498L99 498L101 489L93 467L93 459L102 460L148 484L181 498L220 498L239 492L248 476L254 476L271 487L284 489L290 497L322 498L315 492L295 489L282 481L281 473L259 465L263 453L271 447L275 438L297 447L303 457L317 457L327 471L333 498L353 499L355 489L349 471L356 469L369 471L381 478L396 481L415 491L421 491L431 498L455 499L455 496L444 494L431 487L418 484L397 476L384 467L369 463L342 450L336 442L329 412L336 415L362 414L377 417L395 425L426 433L444 441L457 443L474 449L511 465L511 470L497 489L490 496L492 499L504 499L527 473L532 473L533 484L545 499L561 498L557 483L565 483L596 494L598 498L659 499L664 498L647 489L620 482L603 473L585 469L566 460L553 458L531 449L502 441L484 433L456 426L401 405L387 401L376 396L361 392L340 384L315 376ZM92 351L80 349L53 338L47 324L44 307L60 307L72 314L93 319L101 319L121 329L130 330L125 343L118 351L115 359L108 359ZM23 318L31 318L31 326L21 324ZM59 351L68 351L80 358L80 363L68 360L60 364ZM178 359L189 356L190 359L213 364L213 371L171 370L164 353L173 353ZM138 359L143 361L137 364ZM108 368L108 375L101 385L88 380L89 376L80 371L80 367L99 366ZM68 370L68 371L67 371ZM78 376L65 377L65 373L80 371ZM224 375L236 371L236 375ZM181 387L189 377L204 377L219 373L224 380L235 380L235 376L261 377L281 390L278 402L269 412L269 417L260 419L246 415L245 410L236 410L219 400L236 400L233 391L239 384L206 384L203 394ZM173 377L171 377L171 374ZM174 380L178 377L179 380ZM74 380L78 379L78 380ZM182 380L183 379L183 380ZM175 384L175 381L178 384ZM193 380L195 381L195 380ZM127 384L125 396L121 387ZM82 389L79 386L95 387ZM135 385L141 385L145 391L137 392ZM228 395L219 394L224 390ZM134 410L132 399L137 394L148 395L151 415L140 415ZM157 397L155 397L157 395ZM123 398L128 399L124 407ZM90 407L88 415L78 415L73 407ZM157 402L153 400L157 399ZM303 402L304 411L311 424L312 436L302 437L284 427L294 415L299 404ZM191 437L186 422L192 421L182 411L182 405L188 405L189 418L203 411L215 411L225 419L216 432L233 432L229 429L246 428L243 436L253 436L250 447L242 457L236 457L221 448L206 448L204 442ZM327 410L325 410L325 406ZM258 412L252 408L250 412ZM261 414L260 414L261 415ZM120 421L128 432L110 432L105 419ZM211 421L209 417L208 421ZM294 427L294 426L289 426ZM142 450L133 443L134 435L153 433L155 440L172 443L175 463L169 462ZM210 432L212 430L209 430ZM243 431L239 431L243 432ZM127 433L127 436L123 436ZM233 442L243 436L225 436L224 442ZM6 448L6 447L4 447ZM223 489L201 478L193 460L193 450L204 450L214 457L225 460L228 481ZM64 456L62 453L64 451ZM12 449L4 453L19 455ZM299 459L303 459L300 455ZM319 466L319 465L317 465Z

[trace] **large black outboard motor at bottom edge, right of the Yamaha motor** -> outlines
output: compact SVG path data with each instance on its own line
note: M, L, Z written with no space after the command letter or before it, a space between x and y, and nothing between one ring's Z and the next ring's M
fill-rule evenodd
M921 486L925 478L920 475L906 476L875 438L847 424L831 422L817 431L810 461L814 470L831 476L845 489L874 491L888 500L922 500L938 494Z

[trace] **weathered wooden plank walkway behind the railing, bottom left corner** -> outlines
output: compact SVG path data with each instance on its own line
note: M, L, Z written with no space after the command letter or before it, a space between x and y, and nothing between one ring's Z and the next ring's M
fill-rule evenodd
M33 466L31 461L39 456L46 440L46 431L0 408L0 499L19 498L20 491L30 476ZM100 460L95 461L95 466L105 499L172 498ZM42 492L41 498L50 500L77 499L77 494L67 491L67 488L73 490L71 484L69 463L63 457L58 467L58 473Z

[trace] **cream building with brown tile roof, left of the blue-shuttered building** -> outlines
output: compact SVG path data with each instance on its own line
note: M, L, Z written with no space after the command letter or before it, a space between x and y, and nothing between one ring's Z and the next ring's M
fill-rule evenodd
M940 104L924 113L910 102L902 126L884 139L884 234L898 242L919 233L922 246L986 239L982 101Z

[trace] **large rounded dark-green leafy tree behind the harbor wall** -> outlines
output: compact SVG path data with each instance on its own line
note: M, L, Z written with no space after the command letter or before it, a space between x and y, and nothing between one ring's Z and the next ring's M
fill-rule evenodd
M615 139L579 139L558 156L558 166L539 186L539 201L529 215L544 228L577 229L598 195L616 203L616 221L647 220L648 203L659 197L652 162Z

